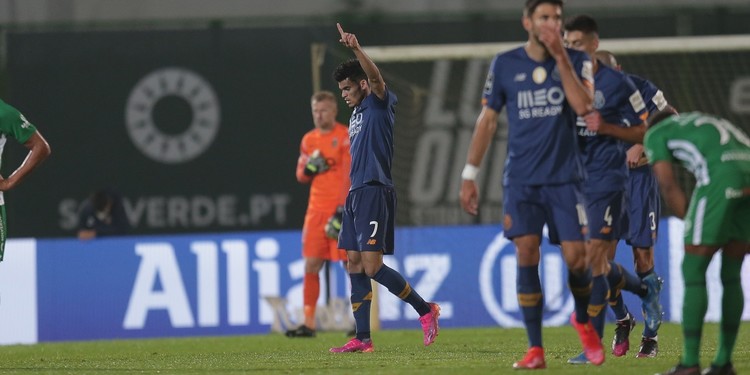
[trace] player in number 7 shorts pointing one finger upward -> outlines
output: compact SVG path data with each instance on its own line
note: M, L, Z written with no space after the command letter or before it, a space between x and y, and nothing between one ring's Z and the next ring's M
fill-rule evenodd
M396 94L385 85L380 70L354 34L336 24L341 44L356 56L340 64L333 73L341 96L354 111L349 119L352 157L351 188L342 217L339 248L347 250L351 303L356 337L333 353L372 352L370 337L370 279L410 304L419 314L425 346L438 335L440 307L425 302L396 270L383 264L384 254L394 252L396 189L391 178L393 164L393 124Z

